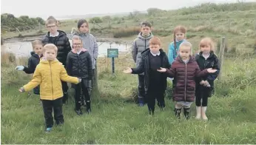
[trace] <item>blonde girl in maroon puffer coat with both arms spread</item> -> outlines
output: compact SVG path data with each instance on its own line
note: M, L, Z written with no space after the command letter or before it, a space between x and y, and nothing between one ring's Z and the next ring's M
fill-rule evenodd
M188 41L181 43L178 50L178 57L172 63L171 69L161 68L161 73L175 78L175 88L173 100L175 102L175 115L181 118L181 109L186 119L190 116L190 106L195 100L195 77L207 75L207 73L215 73L217 70L207 69L201 71L195 58L191 55L192 44Z

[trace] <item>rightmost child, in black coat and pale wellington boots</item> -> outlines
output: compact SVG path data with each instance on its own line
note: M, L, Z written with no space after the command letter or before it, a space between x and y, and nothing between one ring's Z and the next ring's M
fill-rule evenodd
M198 66L201 70L212 68L218 70L216 73L212 73L197 79L195 89L195 104L197 115L195 118L203 118L207 121L206 109L208 104L208 97L212 96L214 91L214 81L218 77L220 64L218 57L215 55L213 49L213 41L211 38L203 38L199 44L200 53L195 56L195 60L198 62ZM202 100L202 102L201 102Z

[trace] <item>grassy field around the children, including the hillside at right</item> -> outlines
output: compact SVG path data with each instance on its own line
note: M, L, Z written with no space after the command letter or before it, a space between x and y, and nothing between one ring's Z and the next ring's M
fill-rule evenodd
M126 67L135 65L128 53L115 59L115 75L111 73L111 59L98 58L100 95L92 96L92 115L75 114L73 90L70 90L70 101L64 106L65 124L53 127L53 131L46 134L39 97L31 92L18 92L31 75L14 68L25 65L26 60L10 62L10 56L1 51L1 144L256 144L255 10L184 15L185 12L168 12L164 27L161 21L154 22L155 30L168 32L156 33L165 51L172 41L169 30L177 24L188 27L186 36L194 51L198 50L198 42L204 36L212 37L215 46L220 37L225 36L229 50L225 55L223 77L215 81L215 95L209 98L206 112L209 121L195 120L195 104L192 118L178 121L169 91L166 91L164 112L156 107L155 115L149 116L147 107L138 107L134 103L137 75L122 73ZM135 26L133 20L129 21L127 24ZM71 30L75 20L66 24L67 30ZM123 27L121 24L112 26ZM135 36L124 39L131 41L133 38Z

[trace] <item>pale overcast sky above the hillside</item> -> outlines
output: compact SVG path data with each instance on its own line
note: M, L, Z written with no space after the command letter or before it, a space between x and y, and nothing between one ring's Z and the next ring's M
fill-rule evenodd
M1 13L15 16L67 16L95 13L124 13L157 7L164 10L189 7L204 2L230 3L238 0L1 0ZM242 1L242 0L240 0ZM256 0L243 0L256 1ZM166 3L167 2L167 3Z

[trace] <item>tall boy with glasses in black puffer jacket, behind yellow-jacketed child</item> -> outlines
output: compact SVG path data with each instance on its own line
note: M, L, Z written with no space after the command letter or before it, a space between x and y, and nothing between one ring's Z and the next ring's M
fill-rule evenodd
M48 19L46 21L46 27L49 31L42 39L42 43L45 44L55 44L58 47L57 59L60 61L64 67L66 67L67 53L70 52L70 40L67 34L61 30L58 30L58 21L54 19ZM67 104L67 82L61 81L62 91L64 92L63 104Z

